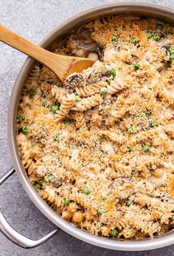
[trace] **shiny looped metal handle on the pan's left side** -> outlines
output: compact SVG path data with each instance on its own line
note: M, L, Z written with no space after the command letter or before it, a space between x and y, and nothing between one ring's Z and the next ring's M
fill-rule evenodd
M7 180L7 178L10 177L15 172L15 169L10 169L10 171L6 172L4 175L0 177L0 185ZM24 237L24 235L19 234L15 229L13 229L12 226L7 222L7 220L2 215L1 209L0 209L0 231L13 243L17 244L18 246L21 246L22 248L32 248L35 246L40 245L41 243L44 243L46 240L49 240L49 238L52 238L53 235L55 235L57 232L60 231L60 229L55 229L52 232L50 232L48 235L45 235L44 238L41 238L39 240L32 240L29 238Z

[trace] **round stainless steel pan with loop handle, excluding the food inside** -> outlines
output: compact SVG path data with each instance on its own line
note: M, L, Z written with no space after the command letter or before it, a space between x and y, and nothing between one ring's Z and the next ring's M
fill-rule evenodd
M133 16L150 16L159 18L161 20L170 22L174 24L174 10L162 7L156 4L147 4L139 2L120 2L114 4L105 4L100 7L94 7L90 10L86 10L83 13L77 14L76 16L69 18L67 21L55 27L51 33L49 33L43 41L41 41L40 46L48 49L52 46L59 38L71 33L74 28L85 24L88 21L91 21L94 18L99 18L103 16L124 14L124 15L133 15ZM55 226L58 226L58 229L55 229L53 232L46 235L41 240L30 240L29 238L24 238L24 236L18 234L4 219L0 211L0 230L7 236L13 243L18 244L24 248L30 248L33 246L38 246L43 243L45 240L55 235L60 229L63 229L65 232L68 232L74 237L86 241L87 243L94 244L95 246L100 246L108 249L122 250L122 251L139 251L139 250L148 250L156 249L159 247L169 246L174 243L174 231L168 232L162 236L145 239L145 240L115 240L112 238L103 238L97 237L89 234L81 229L77 229L72 223L63 220L60 218L35 192L35 189L32 188L29 179L27 178L27 173L24 170L24 167L21 164L20 155L18 153L18 147L15 139L15 119L18 109L18 102L21 97L21 89L26 81L29 70L32 67L34 61L30 58L27 58L25 61L18 78L15 81L13 87L13 92L10 98L10 106L8 112L8 138L10 144L10 152L13 158L14 169L11 169L9 172L4 174L0 178L0 185L3 183L6 178L16 172L19 180L21 181L22 186L24 186L25 191L29 195L29 198L35 203L35 206L44 213L46 218L55 223ZM60 229L59 229L60 228Z

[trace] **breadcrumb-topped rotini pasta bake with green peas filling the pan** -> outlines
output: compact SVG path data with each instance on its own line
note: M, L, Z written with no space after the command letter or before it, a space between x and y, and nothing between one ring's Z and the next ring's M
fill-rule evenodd
M39 195L81 229L125 239L173 229L173 49L172 25L111 16L54 49L98 54L92 67L65 84L38 64L30 73L16 123L21 161Z

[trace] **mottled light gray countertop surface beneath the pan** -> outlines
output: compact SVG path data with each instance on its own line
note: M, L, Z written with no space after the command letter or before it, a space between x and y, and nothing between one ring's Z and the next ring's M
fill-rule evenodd
M143 1L143 0L142 0ZM0 0L1 24L38 44L41 38L61 21L107 0ZM174 0L150 2L174 7ZM26 56L0 42L0 176L13 166L7 142L7 108L15 78ZM21 234L29 238L41 238L54 225L29 200L14 174L2 186L0 207L5 218ZM0 255L174 255L174 245L147 252L116 252L84 243L65 232L60 232L35 249L21 249L0 233Z

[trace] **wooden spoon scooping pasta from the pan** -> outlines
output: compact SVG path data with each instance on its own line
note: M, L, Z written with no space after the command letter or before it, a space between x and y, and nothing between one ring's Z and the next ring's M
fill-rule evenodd
M9 30L0 24L0 41L9 44L11 47L29 55L36 61L49 67L60 80L64 80L67 75L74 72L82 72L87 67L94 64L94 60L88 58L80 58L75 56L60 55L51 53L44 48Z

